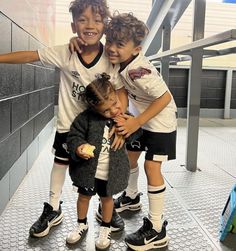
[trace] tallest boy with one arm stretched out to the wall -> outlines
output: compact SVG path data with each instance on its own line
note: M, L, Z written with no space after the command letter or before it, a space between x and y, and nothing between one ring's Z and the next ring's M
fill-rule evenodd
M60 69L57 128L53 143L55 158L51 170L49 203L44 203L41 216L30 228L30 235L34 237L46 236L50 228L61 223L63 219L60 197L69 164L66 138L74 118L86 108L81 93L94 80L96 74L107 72L113 76L111 82L122 99L123 88L115 77L117 69L109 63L100 42L110 16L106 0L75 0L71 2L69 11L72 13L73 33L77 33L86 43L80 54L75 52L71 55L69 45L66 44L0 55L0 63L41 61ZM112 227L115 231L124 228L123 220L115 211Z

